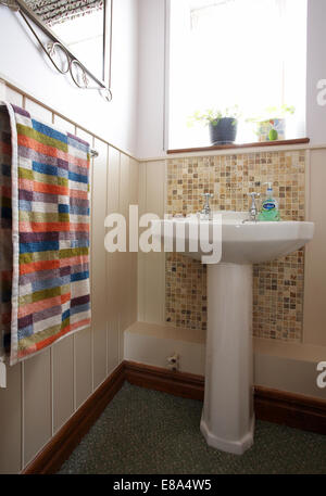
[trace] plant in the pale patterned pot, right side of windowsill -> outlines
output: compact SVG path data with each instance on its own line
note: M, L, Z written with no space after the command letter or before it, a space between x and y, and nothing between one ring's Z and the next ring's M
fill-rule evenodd
M265 112L256 117L247 119L256 126L259 141L276 141L286 138L286 116L293 114L293 106L269 106Z

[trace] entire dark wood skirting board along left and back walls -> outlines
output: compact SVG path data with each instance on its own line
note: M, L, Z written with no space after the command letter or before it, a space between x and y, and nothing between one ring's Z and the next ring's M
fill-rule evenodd
M22 473L55 473L125 381L175 396L203 399L204 378L201 376L124 361L82 405ZM326 400L258 386L254 389L254 408L255 417L260 420L326 435Z

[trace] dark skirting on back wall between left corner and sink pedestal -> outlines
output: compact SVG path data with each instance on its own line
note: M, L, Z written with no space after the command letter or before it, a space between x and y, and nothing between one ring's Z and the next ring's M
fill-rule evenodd
M125 378L130 384L141 387L203 400L204 379L201 376L125 361Z

